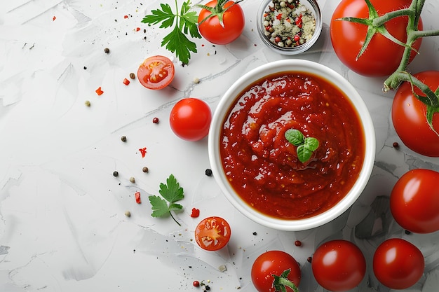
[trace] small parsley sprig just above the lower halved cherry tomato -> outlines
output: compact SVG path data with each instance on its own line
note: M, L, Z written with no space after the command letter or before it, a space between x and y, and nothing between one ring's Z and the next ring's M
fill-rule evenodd
M149 202L151 202L152 208L151 216L171 216L174 221L181 226L181 224L178 223L177 220L175 220L171 211L178 211L183 209L183 206L181 204L177 204L176 202L184 198L184 191L183 188L180 187L180 183L178 183L173 174L170 174L168 179L166 179L166 184L160 183L160 190L158 190L158 193L160 193L163 198L159 197L158 195L150 195L148 197Z

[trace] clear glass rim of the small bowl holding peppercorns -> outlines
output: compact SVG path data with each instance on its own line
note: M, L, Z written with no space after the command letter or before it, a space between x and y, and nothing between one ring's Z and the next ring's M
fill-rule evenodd
M262 29L262 18L263 14L266 10L266 8L269 6L269 3L273 0L265 0L262 2L262 4L259 6L257 11L257 32L259 34L259 37L262 40L262 43L264 43L267 47L269 47L271 50L275 51L276 53L280 53L282 55L297 55L300 53L304 53L306 50L309 50L314 43L318 40L320 37L320 34L323 29L323 19L322 19L322 13L320 11L320 6L318 5L318 2L316 0L300 0L300 3L306 6L307 8L311 8L314 14L314 18L316 19L316 29L314 30L314 34L309 39L309 41L306 41L306 43L303 43L300 46L292 47L292 48L285 48L276 46L274 43L272 43L265 35L264 35L264 29Z

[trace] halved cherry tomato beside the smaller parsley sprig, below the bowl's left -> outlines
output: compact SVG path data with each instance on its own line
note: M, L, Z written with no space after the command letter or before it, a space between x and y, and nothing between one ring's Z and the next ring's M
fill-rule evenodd
M195 228L195 241L206 251L217 251L229 242L230 225L221 217L204 218Z

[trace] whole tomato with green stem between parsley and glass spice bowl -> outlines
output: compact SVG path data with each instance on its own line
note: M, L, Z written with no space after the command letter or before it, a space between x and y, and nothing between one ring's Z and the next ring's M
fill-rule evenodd
M210 1L205 6L215 7L217 0ZM233 6L232 6L233 5ZM232 41L238 39L244 30L245 18L243 9L239 4L234 4L234 1L227 1L223 8L231 6L223 14L224 27L219 23L218 17L212 16L200 23L202 20L211 15L207 9L201 9L198 15L198 30L204 39L210 41L210 43L216 43L217 45L226 45Z

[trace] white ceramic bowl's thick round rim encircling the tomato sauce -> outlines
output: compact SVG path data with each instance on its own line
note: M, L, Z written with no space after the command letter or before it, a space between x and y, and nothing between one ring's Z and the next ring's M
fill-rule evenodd
M222 167L222 158L220 158L219 147L220 135L224 123L224 118L227 115L229 109L236 101L238 95L241 94L248 85L258 81L260 78L276 74L283 71L302 71L317 76L321 76L332 84L336 85L339 90L351 99L351 103L356 108L360 121L363 125L363 132L365 135L365 158L363 160L363 167L360 170L357 181L353 184L353 187L346 194L346 196L340 200L334 207L317 214L309 218L286 220L282 218L273 218L262 214L250 207L246 202L236 194L234 188L231 187L229 181ZM360 194L363 192L367 181L372 173L372 167L374 165L375 158L375 133L370 113L355 88L346 81L341 75L332 69L325 67L322 64L306 60L281 60L264 64L260 67L252 69L247 74L239 78L219 101L217 109L212 118L210 125L210 132L208 137L208 149L209 160L212 167L212 173L215 176L215 180L219 184L222 193L227 197L231 204L236 207L242 214L250 218L261 225L277 230L307 230L316 228L320 225L328 223L344 213L353 202L357 200Z

